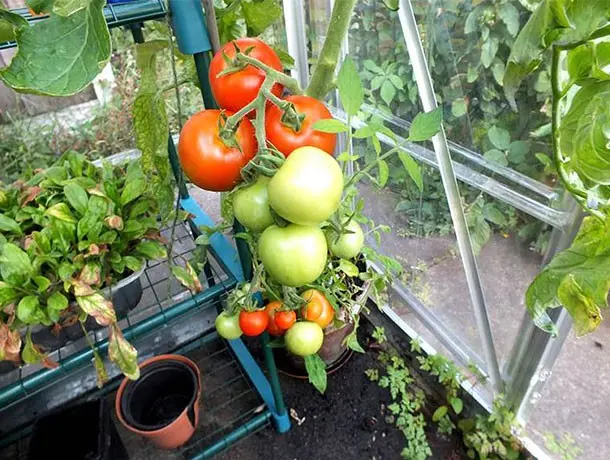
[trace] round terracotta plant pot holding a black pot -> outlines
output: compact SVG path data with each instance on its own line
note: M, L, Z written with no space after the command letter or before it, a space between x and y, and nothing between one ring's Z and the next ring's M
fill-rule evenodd
M115 409L125 428L161 449L174 449L195 433L200 397L197 365L184 356L160 355L140 364L138 380L123 380Z

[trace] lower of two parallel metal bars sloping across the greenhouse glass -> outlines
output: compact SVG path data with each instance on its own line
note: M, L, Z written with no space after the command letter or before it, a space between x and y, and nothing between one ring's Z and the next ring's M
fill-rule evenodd
M331 109L333 116L344 122L347 121L345 113L335 108ZM365 126L362 121L352 119L353 125L356 128ZM382 133L377 133L377 137L381 142L391 147L394 147L395 143L392 138ZM396 136L396 140L403 152L410 154L414 159L421 161L422 163L438 169L438 162L436 160L435 153L427 149L426 147L408 142L404 137ZM466 165L458 163L452 160L455 177L462 182L481 190L500 201L510 204L515 208L529 214L536 219L549 224L553 227L563 229L571 224L571 214L566 211L560 211L553 209L539 201L536 201L528 196L525 196L513 189L506 184L503 184L496 179L486 176L478 171L469 168Z

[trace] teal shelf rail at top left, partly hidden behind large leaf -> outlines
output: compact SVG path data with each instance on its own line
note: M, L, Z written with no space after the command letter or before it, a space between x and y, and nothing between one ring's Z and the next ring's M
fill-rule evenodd
M30 25L48 19L48 16L32 16L27 8L15 8L11 11L20 14ZM166 11L163 0L138 0L137 2L106 5L104 18L108 27L120 27L163 18ZM16 45L15 42L3 42L0 43L0 50L13 48Z

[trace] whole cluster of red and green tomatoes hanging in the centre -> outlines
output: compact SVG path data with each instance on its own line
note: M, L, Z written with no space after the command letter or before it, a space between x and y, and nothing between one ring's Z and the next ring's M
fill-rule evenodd
M237 53L243 55L234 60ZM243 56L264 66L254 66ZM258 98L266 74L276 71L281 71L279 58L258 39L236 40L216 54L210 65L210 83L222 110L194 115L180 136L180 161L196 185L229 191L240 181L241 169L263 147L257 145L250 121L255 114L246 112L262 101ZM323 230L339 208L344 185L343 171L333 157L336 135L314 129L317 121L332 115L323 102L308 96L280 99L282 91L275 83L271 94L263 93L269 99L264 128L267 146L286 159L273 177L259 175L248 186L235 190L232 202L235 218L257 235L255 256L267 275L283 286L302 288L315 283L327 268L329 252L339 258L356 257L364 235L353 220L342 225L345 231ZM247 107L253 101L256 104ZM237 128L234 120L229 120L235 112L245 115ZM276 225L278 220L282 225ZM333 324L335 310L322 292L302 289L303 306L298 311L296 306L290 308L275 300L259 310L251 311L250 306L233 316L223 313L216 320L218 333L235 339L267 331L283 336L286 348L295 355L317 353L324 342L323 330Z

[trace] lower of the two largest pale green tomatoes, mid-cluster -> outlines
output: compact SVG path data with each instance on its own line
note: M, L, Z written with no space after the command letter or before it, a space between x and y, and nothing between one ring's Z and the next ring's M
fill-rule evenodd
M324 232L318 227L272 225L258 241L258 255L265 270L284 286L314 282L324 271L327 253Z

